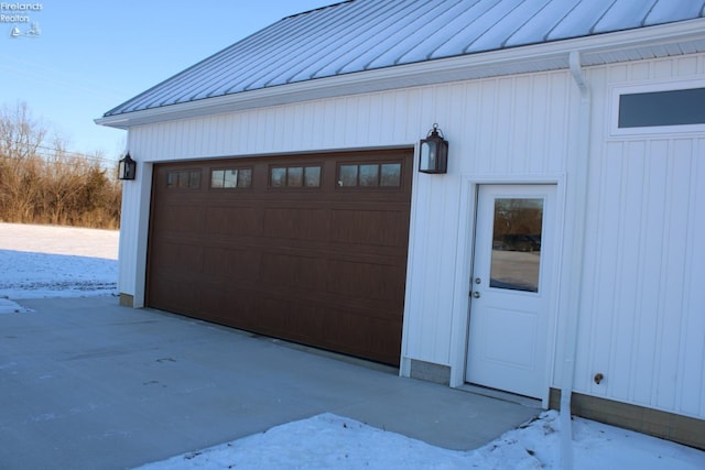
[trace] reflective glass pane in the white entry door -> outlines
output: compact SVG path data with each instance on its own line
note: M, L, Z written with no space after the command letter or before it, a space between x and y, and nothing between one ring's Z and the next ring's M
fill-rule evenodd
M543 199L495 199L490 287L539 292Z

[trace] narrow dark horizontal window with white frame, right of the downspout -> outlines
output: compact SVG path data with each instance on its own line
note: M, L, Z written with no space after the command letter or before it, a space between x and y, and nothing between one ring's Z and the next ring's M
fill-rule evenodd
M696 85L696 86L693 86ZM655 134L705 130L705 83L615 90L612 134Z

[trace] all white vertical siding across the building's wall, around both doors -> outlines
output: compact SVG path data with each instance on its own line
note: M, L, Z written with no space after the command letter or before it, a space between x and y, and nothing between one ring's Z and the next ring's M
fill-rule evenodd
M593 122L575 390L705 417L705 135L616 138L609 121L614 86L703 78L705 55L586 74ZM466 348L474 184L574 182L568 173L578 107L577 87L563 70L132 128L130 152L141 163L141 183L126 185L121 292L138 304L143 296L144 178L152 163L412 146L437 122L451 143L448 174L414 174L402 356L451 365L456 382ZM574 188L558 188L558 195L566 214L574 211ZM583 248L565 232L558 237L557 263L571 274L565 260ZM570 305L570 289L560 278L556 285L556 305ZM570 313L554 314L550 385L560 386ZM597 372L605 375L599 385L593 382Z

